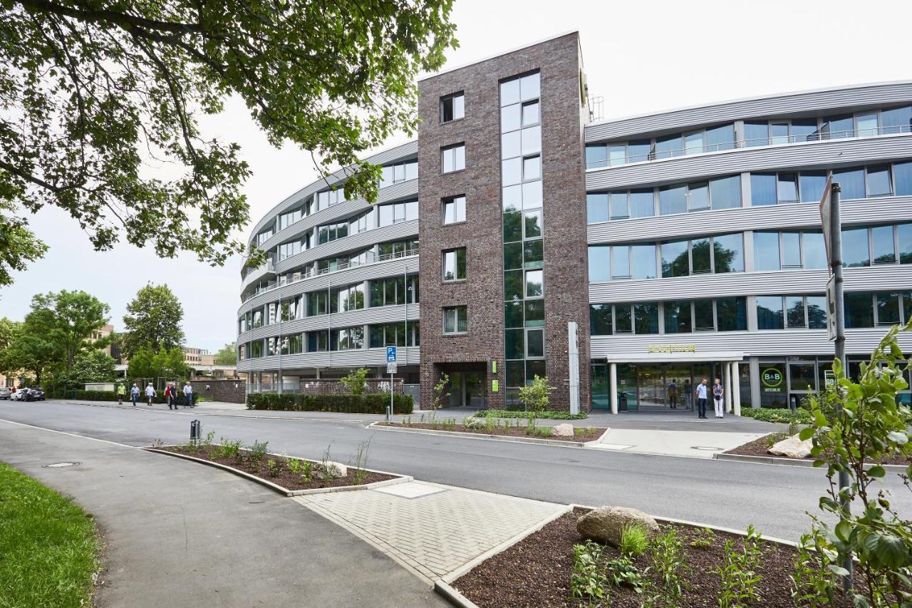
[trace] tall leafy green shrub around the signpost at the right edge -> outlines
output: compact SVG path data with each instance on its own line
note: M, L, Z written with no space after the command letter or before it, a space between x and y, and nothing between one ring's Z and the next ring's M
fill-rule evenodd
M870 362L861 364L857 382L845 375L842 362L834 361L836 386L811 400L813 423L799 435L813 438L814 466L826 467L828 487L820 508L827 519L839 519L831 526L824 518L812 518L812 538L821 547L816 565L848 577L844 564L857 560L865 585L856 587L855 605L912 603L912 520L896 511L889 492L878 485L886 476L881 462L912 456L909 410L897 402L899 391L908 388L909 366L897 363L904 354L896 336L910 329L912 322L887 331ZM843 489L837 482L840 473L848 479ZM904 476L907 487L909 475L912 465ZM821 584L816 580L814 588Z

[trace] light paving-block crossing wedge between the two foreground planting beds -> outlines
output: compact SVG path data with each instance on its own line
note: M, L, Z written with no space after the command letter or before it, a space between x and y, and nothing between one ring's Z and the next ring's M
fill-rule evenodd
M427 482L294 500L429 582L567 507Z

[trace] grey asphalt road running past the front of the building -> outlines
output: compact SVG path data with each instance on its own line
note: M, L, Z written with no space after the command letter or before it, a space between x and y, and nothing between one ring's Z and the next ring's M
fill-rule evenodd
M275 420L202 412L124 410L54 402L0 402L0 419L131 446L154 440L185 443L190 421L215 438L269 442L290 456L347 462L370 440L368 466L416 479L562 503L640 508L686 519L797 540L817 512L826 478L819 469L673 456L645 456L575 447L534 446L484 439L368 430L366 424ZM339 414L340 417L345 414ZM894 475L885 479L892 502L912 513L912 493Z

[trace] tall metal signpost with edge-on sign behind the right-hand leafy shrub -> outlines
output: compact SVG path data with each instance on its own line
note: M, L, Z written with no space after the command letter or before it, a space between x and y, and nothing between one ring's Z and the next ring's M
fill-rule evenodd
M842 189L839 183L833 183L833 176L827 178L824 196L820 200L820 221L824 229L824 244L826 245L826 259L830 265L832 276L826 283L827 306L827 335L834 342L836 359L848 369L845 362L845 300L843 299L843 233L842 218L839 212L839 194ZM832 315L832 318L831 318ZM838 390L838 386L837 386ZM837 399L834 407L834 416L842 415L842 404ZM849 513L847 492L849 475L845 471L839 473L839 503L846 515ZM843 568L848 574L843 576L843 589L852 589L852 558L849 556L843 563Z

